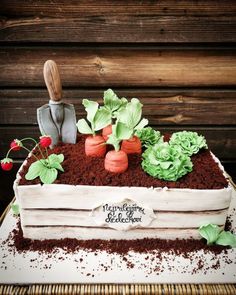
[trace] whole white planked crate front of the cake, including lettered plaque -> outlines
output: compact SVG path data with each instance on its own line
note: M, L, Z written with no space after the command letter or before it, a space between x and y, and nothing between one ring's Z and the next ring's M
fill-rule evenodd
M223 170L219 160L214 159ZM24 237L40 240L199 239L201 225L224 227L232 193L230 183L223 189L199 190L19 185L19 181L18 173L14 190ZM117 226L117 218L131 218L134 222Z

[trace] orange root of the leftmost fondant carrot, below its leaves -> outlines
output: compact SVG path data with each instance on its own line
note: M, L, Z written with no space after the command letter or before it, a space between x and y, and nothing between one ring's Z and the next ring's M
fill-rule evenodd
M85 140L85 154L90 157L104 157L106 153L105 140L101 135L88 136Z

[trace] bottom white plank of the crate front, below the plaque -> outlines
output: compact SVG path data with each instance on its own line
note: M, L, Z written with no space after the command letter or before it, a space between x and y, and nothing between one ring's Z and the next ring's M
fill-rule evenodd
M200 239L197 229L133 229L129 231L117 231L102 228L81 227L23 227L24 237L35 240L76 238L79 240L121 240L121 239Z

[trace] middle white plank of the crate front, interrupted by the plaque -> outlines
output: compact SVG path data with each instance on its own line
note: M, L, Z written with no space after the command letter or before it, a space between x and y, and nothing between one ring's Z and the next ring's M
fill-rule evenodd
M157 212L156 218L147 227L189 228L206 223L225 224L227 210L207 212ZM91 211L73 210L22 210L22 225L70 225L97 226ZM146 227L146 226L145 226Z

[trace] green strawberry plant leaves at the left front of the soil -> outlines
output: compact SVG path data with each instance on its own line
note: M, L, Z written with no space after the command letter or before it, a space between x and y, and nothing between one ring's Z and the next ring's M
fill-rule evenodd
M57 170L64 172L61 166L63 161L63 154L51 154L47 159L37 160L30 165L25 179L32 180L39 177L42 183L53 183L57 179Z

